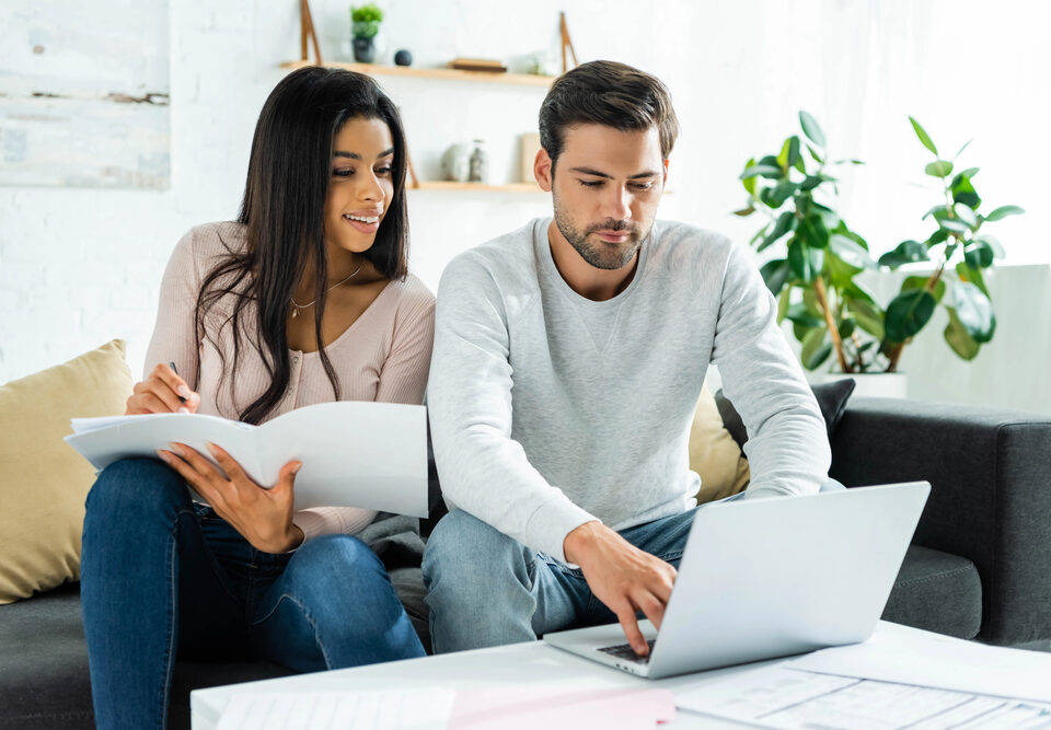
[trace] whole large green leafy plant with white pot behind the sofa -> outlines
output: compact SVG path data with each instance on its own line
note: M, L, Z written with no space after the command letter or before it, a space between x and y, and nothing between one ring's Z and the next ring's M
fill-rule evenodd
M835 212L838 181L827 172L824 134L806 112L799 113L799 124L810 142L806 151L813 166L808 165L799 137L793 136L779 154L749 160L741 173L749 202L736 213L761 212L769 219L751 244L761 252L787 242L786 256L761 269L778 298L778 321L792 322L804 367L815 370L834 355L832 376L855 378L858 392L904 395L903 375L898 373L902 350L939 304L949 314L945 339L961 358L974 358L981 345L992 339L996 320L982 271L1003 258L1003 246L981 229L1024 212L1017 206L1002 206L988 216L979 213L982 200L972 184L978 169L954 175L955 158L942 160L920 123L912 117L910 121L921 143L935 155L925 172L942 181L945 202L924 215L924 220L937 223L925 241L904 241L878 262L873 260L865 240ZM846 163L862 164L839 160L831 165ZM952 266L954 257L962 260ZM937 262L935 270L905 278L886 310L855 281L866 270L929 260ZM880 374L880 385L862 383L870 374Z

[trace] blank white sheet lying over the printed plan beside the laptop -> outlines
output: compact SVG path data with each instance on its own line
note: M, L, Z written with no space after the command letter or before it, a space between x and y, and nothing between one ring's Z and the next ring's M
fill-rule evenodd
M789 661L808 672L1051 703L1051 653L880 631Z

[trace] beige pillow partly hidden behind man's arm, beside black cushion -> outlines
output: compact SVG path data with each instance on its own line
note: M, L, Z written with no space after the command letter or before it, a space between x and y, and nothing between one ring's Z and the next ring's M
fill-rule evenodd
M723 427L715 398L705 385L690 428L690 468L701 475L697 503L723 499L748 486L748 460Z

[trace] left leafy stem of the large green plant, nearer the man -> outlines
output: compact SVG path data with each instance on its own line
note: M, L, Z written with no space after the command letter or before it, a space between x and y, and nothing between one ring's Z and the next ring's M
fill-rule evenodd
M798 135L781 152L751 159L741 181L748 206L738 216L759 212L767 220L751 240L762 252L784 241L785 255L763 265L763 280L777 297L778 321L792 322L802 364L815 370L835 357L844 373L868 372L870 355L883 337L883 312L854 279L877 268L868 243L836 212L838 178L830 173L859 160L828 161L824 132L799 112Z

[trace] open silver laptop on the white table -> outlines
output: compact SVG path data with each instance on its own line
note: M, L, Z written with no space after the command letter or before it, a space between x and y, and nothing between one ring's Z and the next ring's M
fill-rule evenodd
M931 485L739 499L696 511L660 633L620 624L544 635L547 644L656 680L856 644L871 636Z

